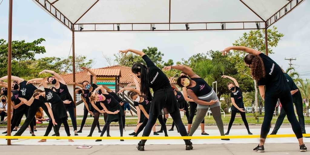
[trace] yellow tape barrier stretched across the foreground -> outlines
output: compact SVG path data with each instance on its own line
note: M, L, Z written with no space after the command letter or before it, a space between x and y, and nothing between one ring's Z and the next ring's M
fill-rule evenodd
M294 134L267 135L267 138L296 137ZM310 134L303 134L303 137L310 137ZM226 136L172 136L172 137L68 137L68 136L0 136L0 139L240 139L240 138L260 138L260 135L226 135Z

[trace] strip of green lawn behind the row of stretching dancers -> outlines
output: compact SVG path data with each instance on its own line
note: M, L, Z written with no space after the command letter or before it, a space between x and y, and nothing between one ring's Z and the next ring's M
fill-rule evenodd
M239 114L237 114L237 115L239 115ZM257 120L255 120L255 117L247 117L246 119L247 119L248 123L262 124L262 122L263 122L263 117L259 117L259 122L257 122ZM126 119L126 124L128 124L128 125L129 124L136 124L137 120L138 119ZM222 117L222 120L223 120L224 124L228 124L230 121L230 117L229 116L225 116L225 118ZM182 121L184 124L187 124L186 117L183 117ZM277 117L273 117L271 123L276 123L276 121L277 121ZM77 120L78 125L80 125L81 122L82 122L82 119ZM92 122L93 122L93 119L86 119L85 124L92 124ZM22 125L23 123L24 123L24 120L21 121L20 125ZM104 124L103 116L100 117L99 123ZM157 123L159 124L158 121L157 121ZM210 118L208 116L208 117L205 117L205 123L206 124L215 124L215 121L214 121L212 116ZM241 117L235 118L234 123L243 123L242 118ZM287 119L284 119L283 123L289 123L289 121ZM305 123L310 123L310 119L308 117L305 118ZM68 124L72 125L71 120L68 120ZM111 124L118 124L118 122L112 122ZM166 124L172 124L172 118L168 118ZM47 124L37 124L37 126L40 126L40 125L47 125ZM7 125L1 124L0 126L7 126Z

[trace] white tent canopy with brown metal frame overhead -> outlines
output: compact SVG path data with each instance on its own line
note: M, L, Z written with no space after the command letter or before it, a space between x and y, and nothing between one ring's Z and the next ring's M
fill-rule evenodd
M33 0L69 29L82 31L117 31L117 24L120 31L182 31L184 24L188 30L263 29L303 1Z

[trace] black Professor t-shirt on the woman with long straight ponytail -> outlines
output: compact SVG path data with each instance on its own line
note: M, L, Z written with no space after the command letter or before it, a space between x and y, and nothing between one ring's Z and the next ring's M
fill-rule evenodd
M157 91L163 89L164 87L171 87L170 82L164 72L159 69L147 55L142 56L143 60L146 62L148 66L148 77L149 77L149 86L153 89L153 91ZM148 100L150 98L151 93L149 93Z

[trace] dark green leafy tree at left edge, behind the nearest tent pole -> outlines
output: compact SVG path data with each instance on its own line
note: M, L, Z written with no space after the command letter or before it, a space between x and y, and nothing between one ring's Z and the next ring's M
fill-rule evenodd
M22 41L12 41L12 61L16 60L25 61L25 60L34 60L36 54L46 53L44 46L39 46L45 39L40 38L33 42ZM0 39L0 76L7 75L7 53L8 53L8 43L4 39ZM16 62L12 62L16 63ZM13 66L13 65L12 65ZM15 65L17 66L17 65ZM20 74L19 70L19 74ZM12 75L15 75L12 72Z

